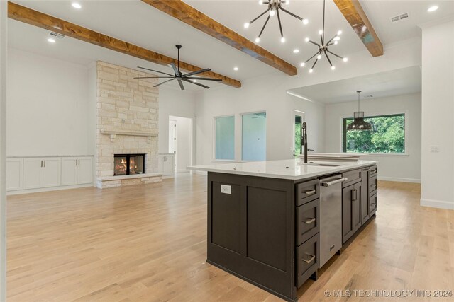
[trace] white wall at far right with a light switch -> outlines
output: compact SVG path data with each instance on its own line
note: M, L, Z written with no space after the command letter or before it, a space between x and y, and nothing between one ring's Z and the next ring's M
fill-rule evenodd
M454 21L422 37L421 205L454 209Z

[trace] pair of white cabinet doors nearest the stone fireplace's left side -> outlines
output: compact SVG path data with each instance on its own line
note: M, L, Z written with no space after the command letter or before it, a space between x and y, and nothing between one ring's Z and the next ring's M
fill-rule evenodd
M93 158L62 158L62 185L84 185L93 182Z

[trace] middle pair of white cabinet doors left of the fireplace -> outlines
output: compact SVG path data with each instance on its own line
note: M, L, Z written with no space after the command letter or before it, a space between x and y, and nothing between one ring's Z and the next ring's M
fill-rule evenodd
M24 158L23 188L27 190L60 186L60 163L61 159L58 157Z

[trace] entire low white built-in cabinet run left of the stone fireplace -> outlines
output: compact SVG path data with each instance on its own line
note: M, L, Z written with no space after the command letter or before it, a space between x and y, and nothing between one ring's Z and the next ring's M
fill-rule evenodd
M6 191L9 192L90 185L93 177L93 156L6 158Z

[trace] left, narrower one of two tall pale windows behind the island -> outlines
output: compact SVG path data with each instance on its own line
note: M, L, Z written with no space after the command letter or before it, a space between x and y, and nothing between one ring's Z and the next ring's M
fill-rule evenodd
M216 159L235 159L235 117L216 117Z

